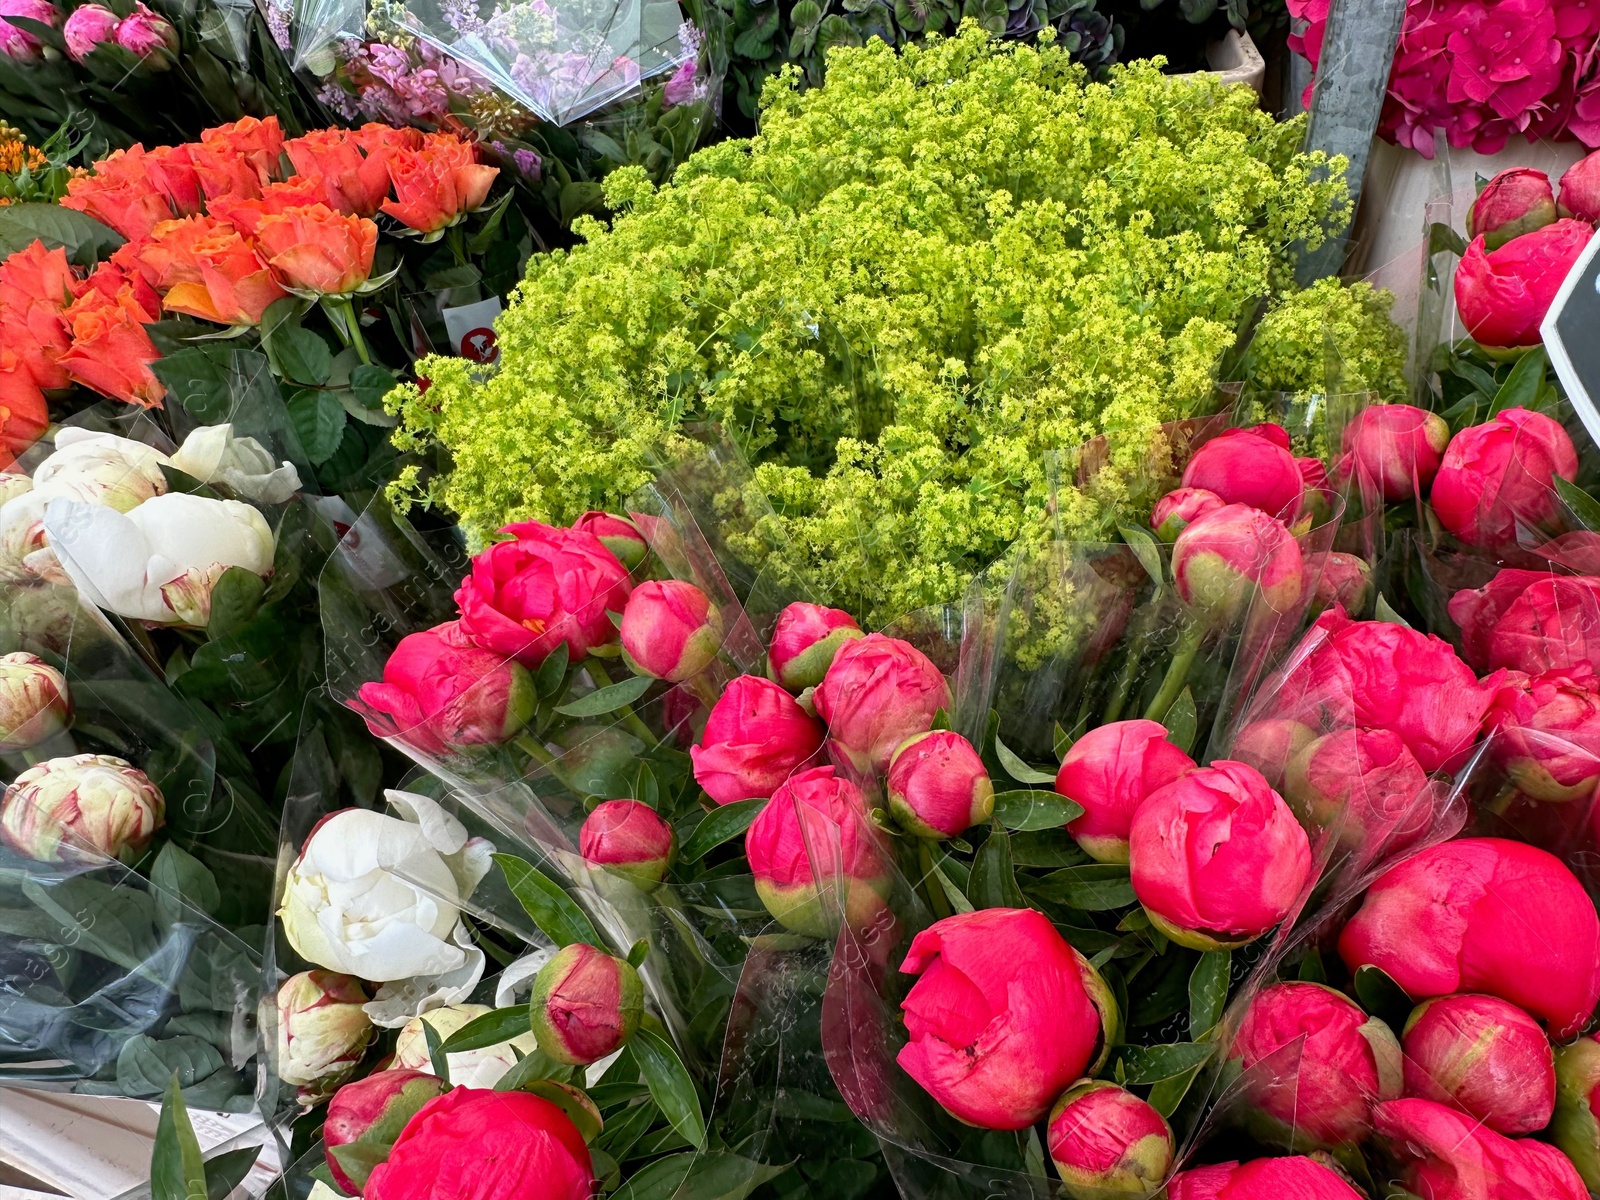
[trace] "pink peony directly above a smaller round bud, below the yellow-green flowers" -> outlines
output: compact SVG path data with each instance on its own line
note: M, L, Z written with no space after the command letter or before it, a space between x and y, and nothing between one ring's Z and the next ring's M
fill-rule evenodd
M950 707L950 688L909 642L867 634L838 648L813 694L830 749L856 771L883 771L910 736Z

